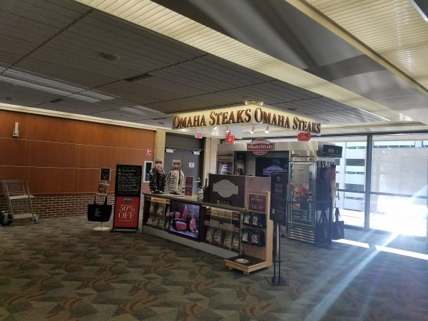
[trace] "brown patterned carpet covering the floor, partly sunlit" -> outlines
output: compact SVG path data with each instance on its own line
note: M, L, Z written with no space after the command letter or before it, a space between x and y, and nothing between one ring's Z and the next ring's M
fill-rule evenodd
M282 239L282 275L249 276L222 258L143 233L92 230L85 217L0 228L0 320L428 320L424 240L347 230L370 248ZM428 255L425 255L428 258Z

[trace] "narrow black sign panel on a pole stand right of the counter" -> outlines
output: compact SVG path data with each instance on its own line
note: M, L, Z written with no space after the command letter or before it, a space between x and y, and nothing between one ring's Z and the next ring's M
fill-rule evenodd
M287 172L273 172L270 180L270 219L287 224Z

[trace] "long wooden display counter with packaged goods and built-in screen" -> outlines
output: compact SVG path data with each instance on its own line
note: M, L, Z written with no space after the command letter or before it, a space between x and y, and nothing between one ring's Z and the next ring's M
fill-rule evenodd
M230 270L244 275L272 265L269 191L247 190L245 208L168 194L145 193L144 198L143 232L219 255ZM197 218L198 228L185 228L189 215Z

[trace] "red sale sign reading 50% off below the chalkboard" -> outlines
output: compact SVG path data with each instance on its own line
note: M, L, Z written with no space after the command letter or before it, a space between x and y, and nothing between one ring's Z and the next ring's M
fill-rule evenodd
M137 196L116 196L113 226L115 228L137 228L140 198Z

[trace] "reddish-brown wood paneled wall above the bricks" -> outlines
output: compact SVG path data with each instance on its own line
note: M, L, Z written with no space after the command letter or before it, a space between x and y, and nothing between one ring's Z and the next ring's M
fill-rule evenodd
M12 138L14 123L19 138ZM31 193L95 193L100 168L144 165L154 131L0 111L0 180L26 180ZM148 190L148 183L143 183Z

